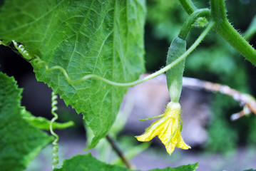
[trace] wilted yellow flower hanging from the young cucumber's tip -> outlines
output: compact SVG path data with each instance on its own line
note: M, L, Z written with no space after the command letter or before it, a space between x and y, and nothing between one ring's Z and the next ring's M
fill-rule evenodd
M188 150L191 148L186 145L182 136L181 129L182 122L180 118L180 103L170 102L167 105L167 109L165 113L163 113L163 118L155 121L150 127L145 129L145 133L140 136L135 136L138 141L150 141L156 135L163 142L167 152L171 155L175 147L182 148L184 150Z

